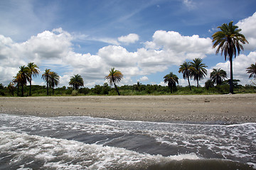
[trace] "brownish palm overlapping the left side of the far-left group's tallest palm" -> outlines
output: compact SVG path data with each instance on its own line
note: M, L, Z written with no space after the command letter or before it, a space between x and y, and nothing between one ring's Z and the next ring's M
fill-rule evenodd
M29 81L29 69L28 67L25 67L24 65L19 67L20 70L18 71L16 79L18 79L19 83L21 84L21 97L24 96L24 85L27 84Z

